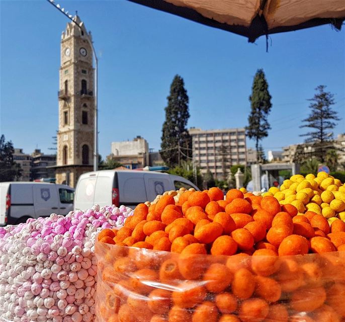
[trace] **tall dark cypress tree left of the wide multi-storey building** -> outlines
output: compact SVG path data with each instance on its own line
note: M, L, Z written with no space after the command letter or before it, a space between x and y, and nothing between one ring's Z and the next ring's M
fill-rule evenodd
M160 155L169 167L181 164L187 159L192 146L191 136L187 131L189 114L189 98L185 83L180 75L176 75L170 85L170 95L165 107L165 121L162 127Z

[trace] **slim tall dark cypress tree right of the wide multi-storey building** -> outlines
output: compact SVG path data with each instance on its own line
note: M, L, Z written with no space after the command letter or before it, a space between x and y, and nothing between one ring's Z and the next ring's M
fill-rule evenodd
M271 99L272 96L269 93L269 85L264 70L258 69L249 96L250 114L248 116L248 126L246 126L246 135L255 140L257 163L260 162L259 142L268 136L268 130L271 129L267 120L272 108Z

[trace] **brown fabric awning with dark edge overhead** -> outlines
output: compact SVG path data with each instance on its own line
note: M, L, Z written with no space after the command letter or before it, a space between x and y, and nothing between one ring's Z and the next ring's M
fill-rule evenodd
M262 35L324 24L340 30L345 0L129 0L242 35Z

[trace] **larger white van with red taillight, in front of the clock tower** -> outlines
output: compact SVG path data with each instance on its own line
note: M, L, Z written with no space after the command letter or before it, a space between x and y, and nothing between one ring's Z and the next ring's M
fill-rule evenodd
M166 173L135 170L101 170L82 174L77 182L74 209L125 205L135 208L139 203L153 201L164 191L180 188L199 190L189 180Z

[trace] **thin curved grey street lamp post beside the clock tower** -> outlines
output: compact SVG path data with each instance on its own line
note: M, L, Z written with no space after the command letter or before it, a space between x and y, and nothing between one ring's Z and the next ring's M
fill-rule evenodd
M66 16L71 20L76 26L81 27L74 21L72 15L68 15L68 11L65 11L64 8L61 8L59 4L55 4L54 0L47 0L52 6L54 6L60 13ZM98 58L96 55L96 50L93 42L90 40L89 36L87 37L90 47L92 48L94 57L95 57L95 111L94 111L94 171L98 170Z

